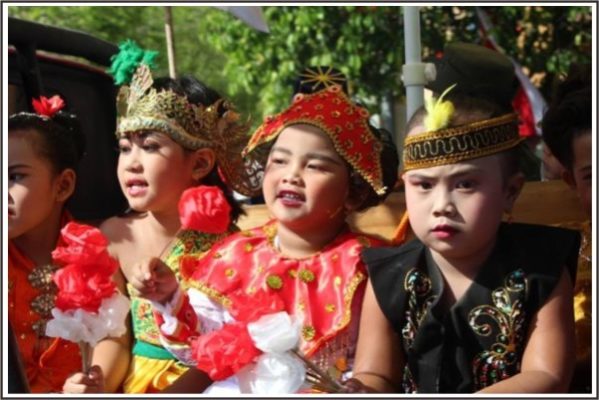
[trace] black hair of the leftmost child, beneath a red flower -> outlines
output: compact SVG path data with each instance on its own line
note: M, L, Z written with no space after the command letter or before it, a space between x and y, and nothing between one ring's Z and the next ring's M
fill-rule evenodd
M76 170L85 152L85 135L77 116L63 110L51 118L30 112L13 114L8 118L8 131L27 135L37 154L50 162L56 174L67 168Z

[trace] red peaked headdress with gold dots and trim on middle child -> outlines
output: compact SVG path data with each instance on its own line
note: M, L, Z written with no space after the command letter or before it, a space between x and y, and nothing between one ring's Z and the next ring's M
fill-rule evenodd
M289 108L265 118L243 150L243 155L275 140L288 126L313 125L322 129L345 161L377 194L383 195L387 191L380 160L383 145L370 130L368 118L368 111L354 104L338 85L313 94L298 94Z

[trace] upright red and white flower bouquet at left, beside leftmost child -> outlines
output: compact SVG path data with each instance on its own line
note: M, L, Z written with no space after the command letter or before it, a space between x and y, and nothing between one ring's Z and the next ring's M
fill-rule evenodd
M105 337L126 332L129 300L112 280L118 263L108 254L108 242L97 228L69 222L61 237L66 245L52 252L62 268L53 275L58 293L46 335L78 343L87 373L91 349Z

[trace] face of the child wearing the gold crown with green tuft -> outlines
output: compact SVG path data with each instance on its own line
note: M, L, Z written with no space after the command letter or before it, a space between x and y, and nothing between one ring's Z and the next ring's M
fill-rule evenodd
M129 206L136 211L177 210L181 193L194 184L194 159L160 132L119 139L117 175Z

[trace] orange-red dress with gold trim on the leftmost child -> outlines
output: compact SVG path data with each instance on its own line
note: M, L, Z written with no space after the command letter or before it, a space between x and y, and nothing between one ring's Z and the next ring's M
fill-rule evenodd
M65 214L62 225L69 220ZM56 296L52 272L53 266L36 266L9 241L8 320L32 393L62 392L66 378L81 369L77 344L45 335Z

